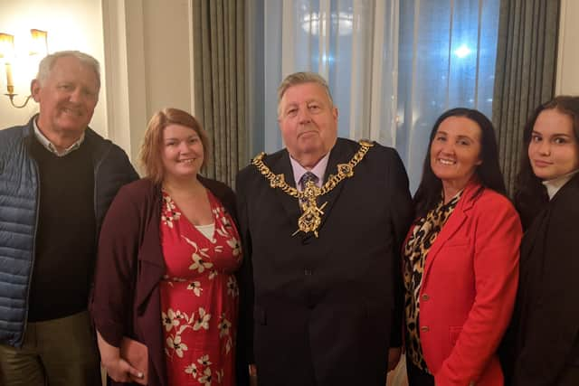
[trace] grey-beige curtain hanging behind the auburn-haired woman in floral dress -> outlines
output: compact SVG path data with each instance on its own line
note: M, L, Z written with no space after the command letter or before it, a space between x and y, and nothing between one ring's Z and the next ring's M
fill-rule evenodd
M245 127L245 0L194 0L195 116L213 156L205 174L233 186L248 162Z

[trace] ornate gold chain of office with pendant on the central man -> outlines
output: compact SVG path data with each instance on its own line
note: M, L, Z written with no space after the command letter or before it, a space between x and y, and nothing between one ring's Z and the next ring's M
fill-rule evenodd
M270 168L263 163L265 153L261 152L252 159L252 165L257 167L260 173L270 182L270 186L273 189L281 189L283 193L287 193L299 200L302 214L298 219L298 231L295 231L292 236L302 231L304 233L313 232L318 237L318 227L322 222L323 210L327 204L327 202L324 202L321 206L318 206L318 197L331 192L342 180L354 176L354 168L362 161L370 147L374 146L372 142L365 140L361 140L359 144L360 148L352 159L347 164L338 164L337 174L330 174L326 184L318 188L318 185L314 184L313 181L308 181L301 192L289 186L283 174L271 172Z

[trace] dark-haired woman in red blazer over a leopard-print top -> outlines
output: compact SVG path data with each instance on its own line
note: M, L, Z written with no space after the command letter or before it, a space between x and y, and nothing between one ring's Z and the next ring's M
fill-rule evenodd
M411 386L503 384L496 351L517 292L521 240L504 194L489 119L468 108L442 114L403 248Z

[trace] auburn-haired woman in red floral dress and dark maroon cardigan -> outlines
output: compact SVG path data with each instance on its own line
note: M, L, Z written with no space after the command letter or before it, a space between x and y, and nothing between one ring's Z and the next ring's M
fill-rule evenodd
M235 384L242 253L232 190L198 175L207 151L195 118L159 111L141 149L147 177L110 205L90 308L112 385ZM126 337L147 347L146 369L122 357Z

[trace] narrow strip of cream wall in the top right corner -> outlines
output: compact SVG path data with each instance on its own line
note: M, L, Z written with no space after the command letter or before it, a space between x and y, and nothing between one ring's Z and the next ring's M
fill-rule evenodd
M561 1L556 94L579 95L579 1Z

